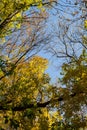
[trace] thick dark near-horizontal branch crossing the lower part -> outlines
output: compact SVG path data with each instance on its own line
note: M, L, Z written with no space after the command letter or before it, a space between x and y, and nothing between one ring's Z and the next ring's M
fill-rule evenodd
M69 97L73 98L73 97L77 96L78 94L84 94L84 92L72 93L72 94L69 95ZM5 105L0 104L0 111L10 111L10 110L12 110L12 111L24 111L28 108L45 108L48 105L50 105L51 103L61 102L61 101L64 101L64 100L66 100L66 99L64 98L64 95L63 95L63 96L60 96L58 98L50 99L50 100L43 102L43 103L39 103L39 102L37 104L36 103L35 104L34 103L29 104L28 103L27 104L26 103L26 105L23 105L23 103L22 103L18 106L15 106L15 107L9 105L9 103L12 103L12 100L11 100L11 101L6 102ZM8 105L6 106L6 104L8 104Z

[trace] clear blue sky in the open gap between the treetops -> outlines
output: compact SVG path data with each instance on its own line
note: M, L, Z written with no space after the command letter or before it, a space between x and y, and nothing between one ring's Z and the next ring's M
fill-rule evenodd
M54 33L53 31L59 31L59 27L58 27L58 23L60 21L60 23L63 23L65 21L64 18L66 19L76 19L77 16L79 17L81 15L81 12L79 12L79 5L78 6L74 6L74 1L68 1L66 2L66 0L59 0L59 4L58 6L55 6L56 9L51 9L49 12L50 12L50 15L49 15L49 19L47 21L47 31L50 32L50 33ZM77 1L77 2L80 2L80 1ZM63 4L65 3L65 7L62 6ZM77 14L75 14L77 12ZM78 13L79 12L79 13ZM65 23L66 24L69 24L69 23ZM78 28L78 25L79 25L79 21L77 22L77 25L75 23L72 24L72 27L71 28L71 33L73 35L73 31L75 31L76 29L76 26ZM82 25L81 25L82 26ZM78 31L78 30L77 30ZM53 46L56 50L60 49L60 48L63 48L62 44L60 45L60 41L58 40L58 38L55 40L55 36L53 38L54 40L54 43L56 42L57 43L57 46ZM59 45L58 45L58 42L59 42ZM53 44L53 42L51 43ZM50 44L50 45L51 45ZM70 46L70 45L69 45ZM78 44L75 45L75 49L77 50L78 48ZM79 51L78 51L79 53ZM61 77L60 75L60 72L61 72L61 65L62 63L64 62L64 59L61 59L61 58L56 58L55 56L53 57L50 53L44 53L44 51L41 51L39 52L39 55L42 56L42 57L45 57L49 60L49 67L48 69L46 70L47 73L49 73L50 77L51 77L51 82L52 83L55 83L58 79L58 77Z

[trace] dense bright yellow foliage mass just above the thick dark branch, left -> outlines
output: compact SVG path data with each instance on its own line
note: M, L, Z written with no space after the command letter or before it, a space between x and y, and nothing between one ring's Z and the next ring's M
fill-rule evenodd
M47 64L47 59L40 56L35 56L29 61L19 63L14 73L1 81L7 87L3 92L7 93L7 90L9 92L11 90L11 93L14 93L15 91L14 98L17 98L15 102L21 102L23 97L28 97L31 100L36 99L38 90L44 84L44 72Z

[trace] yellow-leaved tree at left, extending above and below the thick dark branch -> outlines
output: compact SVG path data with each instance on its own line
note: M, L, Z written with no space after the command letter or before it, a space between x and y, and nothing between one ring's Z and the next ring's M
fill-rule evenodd
M3 129L9 126L26 129L27 122L31 124L31 121L38 115L37 102L45 101L49 88L49 76L44 73L46 67L47 60L35 56L25 63L19 63L12 75L0 81L0 110L3 107L0 115L2 122L6 123L6 126L2 123ZM31 108L27 105L31 105ZM21 109L17 109L19 106ZM23 107L26 108L23 109Z

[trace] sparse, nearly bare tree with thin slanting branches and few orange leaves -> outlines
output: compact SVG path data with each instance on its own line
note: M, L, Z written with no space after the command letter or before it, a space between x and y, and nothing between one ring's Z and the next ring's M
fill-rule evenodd
M45 34L44 29L46 13L35 11L32 13L29 19L26 17L23 21L20 30L13 32L8 36L5 44L1 45L0 67L3 74L0 75L0 80L10 75L18 62L22 59L28 60L48 42L49 34Z

